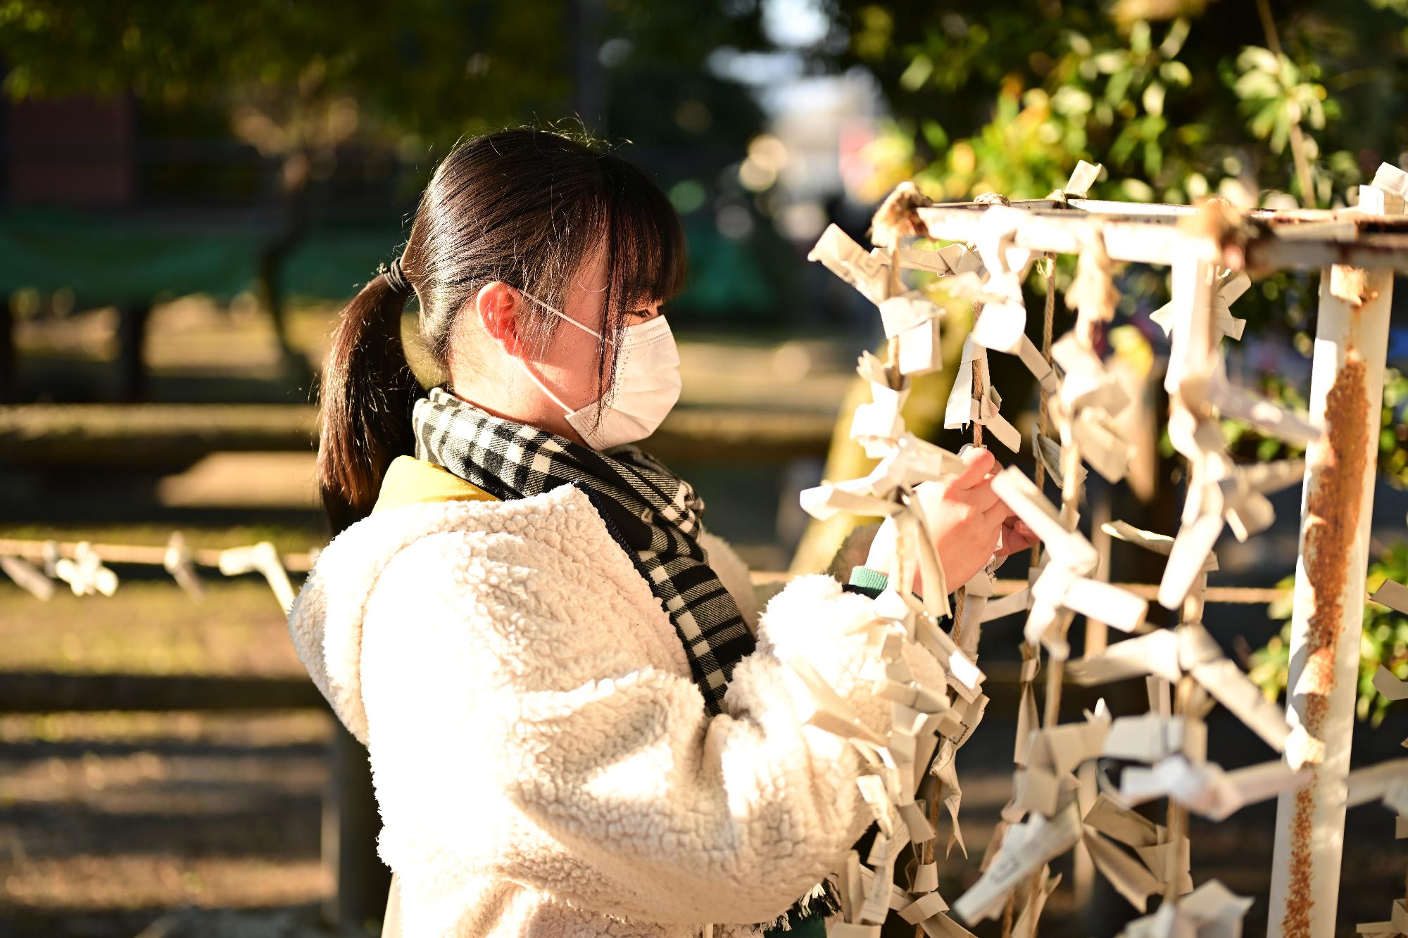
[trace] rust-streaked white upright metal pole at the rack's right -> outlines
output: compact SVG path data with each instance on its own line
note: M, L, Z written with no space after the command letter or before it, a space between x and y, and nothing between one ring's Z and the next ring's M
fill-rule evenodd
M1362 186L1360 207L1401 213L1402 200ZM1287 715L1325 753L1277 803L1270 935L1335 934L1393 287L1391 269L1321 275L1309 407L1325 431L1307 452Z

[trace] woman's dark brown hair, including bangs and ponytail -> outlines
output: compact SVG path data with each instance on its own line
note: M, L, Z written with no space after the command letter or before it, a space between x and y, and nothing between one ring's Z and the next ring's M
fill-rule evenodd
M603 334L627 314L684 284L684 232L659 186L641 169L584 139L504 130L459 142L421 194L401 254L434 363L448 373L455 320L493 280L563 308L584 261L605 251ZM401 346L408 297L384 275L342 310L320 392L318 487L337 535L366 517L391 459L414 451L411 407L422 394ZM520 332L546 348L560 320L536 303ZM598 396L620 342L601 342ZM600 415L600 414L598 414Z

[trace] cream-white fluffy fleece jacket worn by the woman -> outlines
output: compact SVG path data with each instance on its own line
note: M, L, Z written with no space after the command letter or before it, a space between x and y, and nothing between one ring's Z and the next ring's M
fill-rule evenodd
M839 869L870 814L856 751L804 725L810 661L877 731L872 600L805 576L758 615L701 541L758 651L710 717L645 580L570 486L379 511L339 534L289 617L370 751L407 938L758 935ZM911 669L941 682L915 645Z

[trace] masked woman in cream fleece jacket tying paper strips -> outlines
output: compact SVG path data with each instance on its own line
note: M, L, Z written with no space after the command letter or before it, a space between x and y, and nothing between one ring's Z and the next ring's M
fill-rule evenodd
M444 159L338 324L334 539L289 627L370 752L404 935L804 935L835 908L825 877L870 821L862 762L804 725L786 662L887 725L846 631L874 590L805 576L759 613L690 486L629 445L679 397L660 303L683 277L641 170L503 131ZM400 341L411 293L448 375L428 393ZM991 456L966 459L928 493L950 582L1008 518Z

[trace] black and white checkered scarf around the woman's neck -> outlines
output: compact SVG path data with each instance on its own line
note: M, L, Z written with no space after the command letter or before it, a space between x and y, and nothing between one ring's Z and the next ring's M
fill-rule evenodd
M704 501L687 482L636 446L598 452L494 417L444 386L415 401L411 423L417 459L444 466L498 499L524 499L563 484L582 489L670 617L705 708L722 713L734 666L758 642L696 539ZM804 915L839 910L841 897L828 879L758 927L788 930Z

